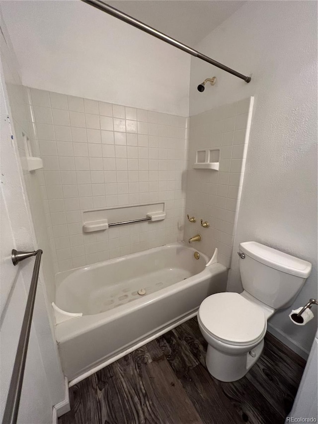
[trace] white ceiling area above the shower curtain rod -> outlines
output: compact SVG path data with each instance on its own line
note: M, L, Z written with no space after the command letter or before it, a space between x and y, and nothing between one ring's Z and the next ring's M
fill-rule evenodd
M245 3L242 0L105 1L190 47Z

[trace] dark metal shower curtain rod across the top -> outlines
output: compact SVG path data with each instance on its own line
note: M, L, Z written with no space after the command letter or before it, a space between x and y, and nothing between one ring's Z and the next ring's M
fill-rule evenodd
M103 12L108 13L109 15L115 16L115 18L118 18L126 23L129 23L130 25L135 26L138 29L141 29L142 31L147 32L150 35L153 35L154 37L159 38L162 41L165 41L168 44L171 44L172 46L176 47L177 49L183 50L186 53L189 53L189 55L195 56L199 59L204 60L205 62L210 63L211 65L214 65L220 69L223 69L223 71L229 72L232 75L235 75L236 77L244 80L246 83L250 82L250 77L246 77L245 75L240 74L237 71L234 71L233 69L223 65L222 63L219 63L208 56L203 55L202 53L191 49L191 47L186 46L185 44L180 43L177 40L174 40L173 38L169 37L168 35L163 34L162 32L158 31L155 28L152 28L151 26L146 25L145 23L133 18L132 16L127 15L126 13L121 12L118 9L115 9L115 7L109 6L108 4L104 3L104 1L101 0L81 0L85 3L90 4L91 6L96 7L99 10L102 10Z

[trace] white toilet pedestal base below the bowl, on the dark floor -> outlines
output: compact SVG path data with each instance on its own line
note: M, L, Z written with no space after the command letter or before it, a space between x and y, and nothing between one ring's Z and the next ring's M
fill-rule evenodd
M205 357L209 373L220 381L236 381L244 377L247 371L254 365L260 357L264 347L264 340L261 340L251 351L240 355L229 355L220 352L215 347L208 344ZM253 356L250 354L253 353ZM255 355L255 356L254 356Z

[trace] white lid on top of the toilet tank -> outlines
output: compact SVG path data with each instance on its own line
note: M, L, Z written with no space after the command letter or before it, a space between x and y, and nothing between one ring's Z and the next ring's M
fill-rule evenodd
M264 265L297 277L307 278L312 270L312 264L307 260L299 259L257 242L240 243L239 250Z

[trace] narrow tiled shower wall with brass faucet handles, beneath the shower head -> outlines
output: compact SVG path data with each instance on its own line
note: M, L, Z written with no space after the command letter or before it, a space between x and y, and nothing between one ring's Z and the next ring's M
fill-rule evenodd
M243 181L253 97L222 105L190 118L186 213L196 223L186 222L184 238L200 234L193 247L212 256L219 250L219 262L230 267ZM220 168L193 169L196 151L220 150ZM200 220L209 228L201 227Z

